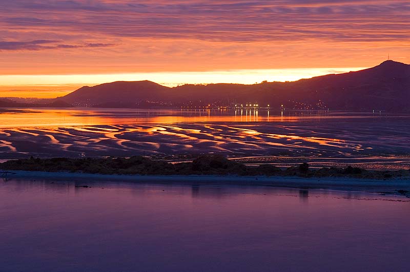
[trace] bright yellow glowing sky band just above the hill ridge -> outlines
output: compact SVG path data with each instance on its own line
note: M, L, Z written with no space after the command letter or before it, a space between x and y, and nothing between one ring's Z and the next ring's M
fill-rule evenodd
M363 68L298 68L298 69L254 69L209 72L156 72L129 74L83 74L83 75L0 75L0 96L41 97L63 96L82 86L118 80L151 80L161 85L174 87L185 83L260 83L268 81L294 81L325 74L358 71Z

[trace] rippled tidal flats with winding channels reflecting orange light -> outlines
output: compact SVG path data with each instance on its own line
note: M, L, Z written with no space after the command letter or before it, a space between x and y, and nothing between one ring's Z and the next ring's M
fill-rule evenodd
M394 126L394 124L393 124ZM2 159L81 156L395 156L410 155L410 125L359 122L179 123L2 129Z

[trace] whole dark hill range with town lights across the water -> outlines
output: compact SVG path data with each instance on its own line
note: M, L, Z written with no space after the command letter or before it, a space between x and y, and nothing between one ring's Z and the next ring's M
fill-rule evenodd
M283 104L288 109L410 112L410 65L387 60L357 72L254 85L219 83L168 88L147 80L117 81L82 87L60 99L101 107L259 103L263 107Z

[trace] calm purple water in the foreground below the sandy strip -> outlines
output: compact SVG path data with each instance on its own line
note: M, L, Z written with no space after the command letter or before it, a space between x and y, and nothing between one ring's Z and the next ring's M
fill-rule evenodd
M408 271L404 197L14 179L0 199L1 271Z

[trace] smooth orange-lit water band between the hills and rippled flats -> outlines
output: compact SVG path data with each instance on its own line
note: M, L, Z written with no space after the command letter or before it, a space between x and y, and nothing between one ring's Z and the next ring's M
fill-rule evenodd
M144 110L144 109L21 109L0 111L0 128L102 125L136 123L180 123L180 122L300 122L326 119L386 119L408 118L391 114L349 113L330 111L274 111L272 109L236 110Z

